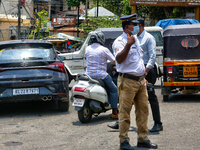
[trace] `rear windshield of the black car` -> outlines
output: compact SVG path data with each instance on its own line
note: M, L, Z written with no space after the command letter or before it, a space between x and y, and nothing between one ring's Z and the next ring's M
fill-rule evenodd
M0 50L0 60L50 60L54 59L53 48L32 46L10 46Z

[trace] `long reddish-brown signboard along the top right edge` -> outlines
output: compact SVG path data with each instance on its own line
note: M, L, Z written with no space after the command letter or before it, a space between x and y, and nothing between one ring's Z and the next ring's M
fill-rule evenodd
M130 5L197 7L200 6L200 0L130 0Z

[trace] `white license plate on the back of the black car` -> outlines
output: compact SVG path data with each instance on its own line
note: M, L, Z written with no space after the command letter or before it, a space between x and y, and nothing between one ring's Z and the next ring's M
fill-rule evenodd
M39 94L39 88L13 89L13 95Z

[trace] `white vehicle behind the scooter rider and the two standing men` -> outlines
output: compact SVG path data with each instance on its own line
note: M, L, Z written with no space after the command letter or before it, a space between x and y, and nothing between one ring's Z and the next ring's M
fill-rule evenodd
M157 59L156 59L156 66L157 66L157 76L160 77L162 75L162 32L163 29L161 27L145 27L145 30L149 33L151 33L157 43L156 47L156 53L157 53ZM123 30L122 28L99 28L96 29L96 31L102 31L105 35L106 42L105 47L107 47L111 52L112 50L112 43L113 41L122 34ZM59 54L59 56L65 57L64 64L67 70L67 73L69 75L69 83L72 79L76 78L77 74L83 74L85 72L84 67L86 65L86 59L85 59L85 49L88 45L90 45L90 33L88 37L86 38L85 42L83 43L81 49L79 51L75 51L73 53L62 53Z

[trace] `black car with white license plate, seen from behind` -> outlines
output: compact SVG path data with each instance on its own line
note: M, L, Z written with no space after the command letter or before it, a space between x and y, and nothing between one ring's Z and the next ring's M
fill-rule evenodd
M0 42L0 102L57 101L69 109L68 76L54 46L44 40Z

